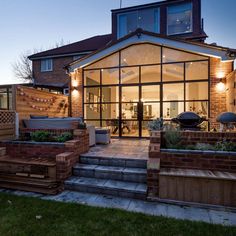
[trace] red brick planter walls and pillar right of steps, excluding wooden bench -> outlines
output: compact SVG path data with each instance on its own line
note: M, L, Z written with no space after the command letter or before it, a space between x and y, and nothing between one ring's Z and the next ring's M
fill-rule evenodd
M183 145L215 143L226 138L236 142L236 133L181 132ZM191 150L165 150L164 132L154 131L150 137L147 168L148 198L158 197L161 168L181 168L236 173L236 153ZM158 163L153 165L152 163Z

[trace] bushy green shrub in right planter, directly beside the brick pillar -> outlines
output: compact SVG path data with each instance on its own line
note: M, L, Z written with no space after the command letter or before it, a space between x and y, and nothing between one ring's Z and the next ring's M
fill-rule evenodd
M181 142L181 133L179 128L174 127L173 125L165 125L165 134L164 139L166 147L170 149L180 149L182 148Z

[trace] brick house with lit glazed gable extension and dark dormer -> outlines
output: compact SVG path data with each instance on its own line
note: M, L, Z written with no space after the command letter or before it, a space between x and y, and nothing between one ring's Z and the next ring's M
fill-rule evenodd
M204 42L207 35L200 0L169 0L113 10L112 34L106 37L93 48L87 47L87 40L81 41L84 47L76 53L82 57L66 66L72 116L83 116L98 127L111 127L112 135L118 137L148 137L150 120L163 117L170 121L184 111L204 117L205 130L218 127L217 115L232 104L225 86L235 81L236 51ZM36 83L36 71L38 76L45 73L42 84L48 78L50 83L58 81L57 76L47 75L54 72L40 73L39 68L48 66L45 60L51 60L47 63L52 67L55 53L68 48L71 45L30 57Z

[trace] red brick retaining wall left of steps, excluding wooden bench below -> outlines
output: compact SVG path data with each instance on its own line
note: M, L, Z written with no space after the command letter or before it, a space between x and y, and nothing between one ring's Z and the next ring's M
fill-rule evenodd
M71 175L79 155L89 150L89 134L87 129L74 130L74 139L65 143L5 141L0 147L6 148L9 158L29 158L29 162L34 157L55 160L57 180L62 181Z

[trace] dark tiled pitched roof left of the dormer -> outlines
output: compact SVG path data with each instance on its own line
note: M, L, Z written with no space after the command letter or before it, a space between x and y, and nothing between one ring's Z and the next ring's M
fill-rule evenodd
M30 60L50 57L50 56L60 56L60 55L70 55L76 53L86 53L95 51L101 47L104 47L112 40L112 34L98 35L88 39L84 39L75 43L71 43L62 47L50 49L44 52L39 52L29 56Z

